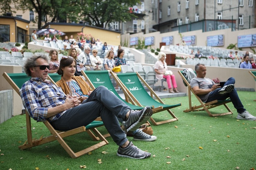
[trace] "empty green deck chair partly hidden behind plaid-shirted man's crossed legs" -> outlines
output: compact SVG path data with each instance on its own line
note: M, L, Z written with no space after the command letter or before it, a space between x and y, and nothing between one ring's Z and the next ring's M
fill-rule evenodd
M118 95L117 91L115 90L111 79L108 75L108 70L99 70L99 71L81 71L81 73L84 75L84 78L89 83L91 88L95 89L99 86L105 86L108 88L109 91L113 92L120 100L122 100L125 104L127 104L131 109L133 110L142 110L144 107L136 106L135 102L132 100L132 98L129 98L129 100L133 103L130 104L123 100L120 95Z

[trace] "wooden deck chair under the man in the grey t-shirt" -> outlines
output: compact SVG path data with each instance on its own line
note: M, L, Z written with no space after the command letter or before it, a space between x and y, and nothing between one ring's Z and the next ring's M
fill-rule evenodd
M184 75L182 74L183 71L178 71L179 75L181 76L182 80L187 84L187 88L188 88L188 103L189 103L189 109L187 110L183 110L183 112L191 112L191 111L202 111L205 110L209 116L223 116L223 115L230 115L233 114L232 111L230 110L230 108L227 106L227 103L231 102L230 99L226 99L226 100L214 100L214 101L210 101L208 103L204 103L199 97L198 95L195 94L194 90L191 88L190 84L188 83L187 79L184 77ZM200 105L198 106L192 106L192 102L191 102L191 92L196 96L197 100L200 102ZM226 107L226 109L228 110L227 113L220 113L220 114L212 114L209 109L217 107L217 106L221 106L224 105ZM203 108L202 108L203 107ZM201 109L200 109L201 108Z

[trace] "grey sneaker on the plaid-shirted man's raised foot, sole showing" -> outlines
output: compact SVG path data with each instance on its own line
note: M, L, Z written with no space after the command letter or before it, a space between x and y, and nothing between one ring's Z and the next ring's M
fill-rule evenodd
M152 109L148 106L142 110L131 110L129 117L125 122L126 132L137 130L142 124L148 121L152 114Z

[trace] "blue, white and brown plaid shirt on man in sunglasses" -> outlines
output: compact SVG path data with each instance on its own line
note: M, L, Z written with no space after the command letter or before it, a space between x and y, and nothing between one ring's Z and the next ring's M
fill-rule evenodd
M60 87L56 87L49 80L30 78L20 89L20 96L30 117L37 122L46 120L48 108L65 103L66 95ZM64 113L58 113L48 118L49 122L59 119Z

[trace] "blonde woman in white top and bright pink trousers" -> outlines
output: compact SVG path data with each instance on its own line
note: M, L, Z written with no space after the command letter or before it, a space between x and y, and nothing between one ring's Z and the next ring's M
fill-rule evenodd
M156 74L156 78L157 80L162 80L163 78L166 79L168 88L169 88L169 93L178 93L179 91L177 90L177 84L176 84L176 80L175 80L175 76L174 75L164 75L164 72L167 70L167 64L164 61L166 59L166 54L163 52L160 52L158 54L158 61L155 63L155 72ZM171 80L172 80L172 84L171 84ZM172 90L172 86L173 86L173 90Z

